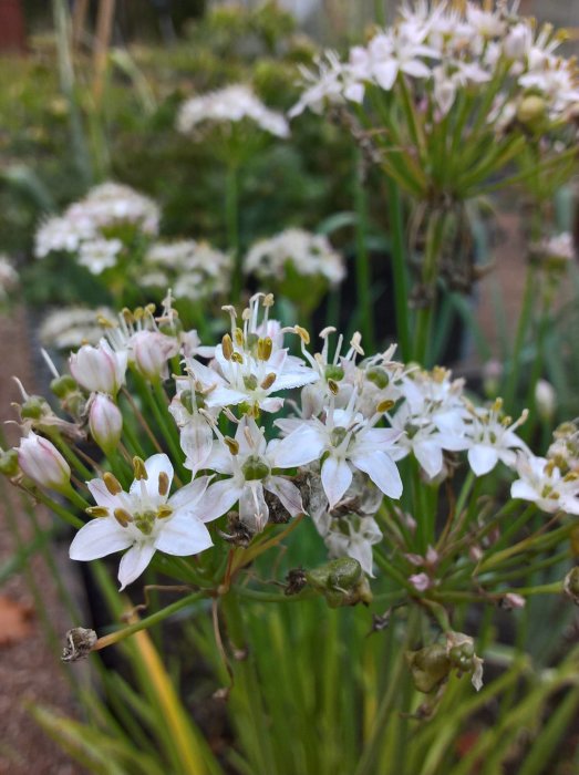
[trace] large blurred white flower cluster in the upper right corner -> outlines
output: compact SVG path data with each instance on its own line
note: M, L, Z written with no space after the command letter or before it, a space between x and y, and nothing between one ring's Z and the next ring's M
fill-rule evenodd
M396 23L354 46L348 61L329 53L319 73L303 71L307 89L290 115L304 108L321 112L327 103L361 103L366 86L385 92L402 74L424 111L441 121L464 89L494 82L488 121L505 127L514 118L547 116L565 121L578 113L579 85L575 60L556 50L562 35L550 25L537 30L519 17L516 6L498 2L482 10L467 2L464 12L451 2L421 0L402 7ZM538 97L538 99L537 99Z

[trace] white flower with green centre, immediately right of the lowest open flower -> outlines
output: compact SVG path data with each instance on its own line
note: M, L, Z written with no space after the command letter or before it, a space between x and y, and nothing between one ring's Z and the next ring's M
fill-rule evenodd
M252 533L262 530L269 519L269 507L263 490L275 495L292 516L303 513L299 489L287 477L272 473L280 465L275 457L276 442L266 442L263 431L255 420L245 416L237 427L235 440L214 443L206 465L229 476L207 489L206 519L216 519L239 503L239 519Z

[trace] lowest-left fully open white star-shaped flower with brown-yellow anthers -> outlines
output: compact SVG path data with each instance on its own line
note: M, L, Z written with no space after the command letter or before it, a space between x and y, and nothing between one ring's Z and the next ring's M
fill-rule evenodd
M144 469L128 493L111 475L87 483L97 504L92 513L100 516L79 530L70 548L73 560L94 560L128 549L118 567L121 589L141 576L155 551L183 557L213 545L201 507L208 477L193 480L169 497L173 466L167 455L153 455Z

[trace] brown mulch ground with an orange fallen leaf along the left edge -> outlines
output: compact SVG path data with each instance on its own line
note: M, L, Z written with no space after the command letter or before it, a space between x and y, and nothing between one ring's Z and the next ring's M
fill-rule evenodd
M15 312L0 317L0 418L13 420L10 402L19 399L11 376L18 374L28 390L34 390L25 317ZM37 388L38 390L38 388ZM11 443L17 443L18 428L6 426ZM10 489L7 486L7 489ZM22 539L32 534L29 519L18 512L18 494L10 493L10 504L0 503L0 568L17 548L9 512L18 517ZM39 512L46 524L46 515ZM51 550L55 561L64 567L65 558ZM70 684L60 663L62 643L49 643L42 626L45 614L54 632L62 634L70 619L59 600L53 577L37 555L29 562L30 575L41 590L42 611L39 611L27 576L18 574L0 588L4 616L0 616L0 775L77 775L83 771L53 743L30 716L27 704L54 709L69 716L75 715ZM64 583L71 583L66 575ZM74 581L72 581L74 583ZM21 629L17 627L19 612ZM10 613L10 616L9 616ZM8 642L7 642L8 641ZM73 674L74 678L75 674Z

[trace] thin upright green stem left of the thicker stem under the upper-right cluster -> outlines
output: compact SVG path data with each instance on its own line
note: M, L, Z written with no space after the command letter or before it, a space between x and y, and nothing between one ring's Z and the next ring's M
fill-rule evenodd
M394 310L396 314L396 334L400 344L400 356L403 361L411 358L411 338L409 324L409 278L406 269L406 251L404 239L404 223L402 217L402 197L400 187L391 177L387 180L387 198L390 209L390 228L392 230L392 275L394 280Z

